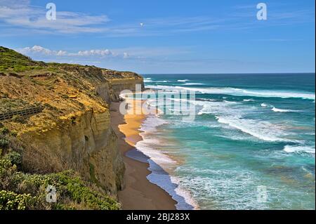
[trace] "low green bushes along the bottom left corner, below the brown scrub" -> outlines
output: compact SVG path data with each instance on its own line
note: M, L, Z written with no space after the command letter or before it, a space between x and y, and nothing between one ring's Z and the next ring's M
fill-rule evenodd
M56 188L57 202L46 202L46 187ZM117 210L118 202L84 183L74 171L46 175L26 174L8 159L0 159L0 209Z

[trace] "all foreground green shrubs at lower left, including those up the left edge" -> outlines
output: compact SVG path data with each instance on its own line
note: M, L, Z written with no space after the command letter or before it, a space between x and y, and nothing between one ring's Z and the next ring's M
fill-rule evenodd
M24 144L6 127L0 129L0 209L119 209L120 204L102 194L92 182L72 171L30 173L34 159L24 157ZM34 149L33 149L34 150ZM45 171L45 160L41 161ZM47 203L46 187L56 187L57 203Z

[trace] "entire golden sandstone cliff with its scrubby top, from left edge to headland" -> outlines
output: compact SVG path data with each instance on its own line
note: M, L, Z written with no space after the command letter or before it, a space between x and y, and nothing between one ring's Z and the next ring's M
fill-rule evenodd
M0 47L0 113L43 108L0 122L36 149L25 152L32 171L74 169L115 196L124 186L125 168L109 104L119 100L120 91L135 91L136 84L143 86L143 78L132 72L35 62Z

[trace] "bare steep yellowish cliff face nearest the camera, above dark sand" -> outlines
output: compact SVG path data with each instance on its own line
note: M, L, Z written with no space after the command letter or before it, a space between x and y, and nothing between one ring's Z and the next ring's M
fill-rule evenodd
M108 110L68 114L51 126L26 129L20 138L58 154L67 168L78 171L110 195L116 195L124 185L124 163Z

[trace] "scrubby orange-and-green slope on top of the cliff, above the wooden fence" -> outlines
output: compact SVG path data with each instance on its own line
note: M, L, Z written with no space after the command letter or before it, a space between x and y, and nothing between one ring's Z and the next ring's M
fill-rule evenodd
M104 106L94 88L98 84L106 83L111 79L142 79L133 72L117 72L94 66L37 62L0 46L1 76L0 112L45 102L48 107L55 107L59 112L66 114L72 108L81 110L93 105L91 101L99 102Z

